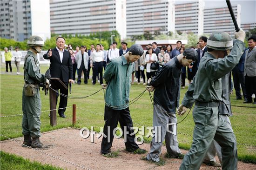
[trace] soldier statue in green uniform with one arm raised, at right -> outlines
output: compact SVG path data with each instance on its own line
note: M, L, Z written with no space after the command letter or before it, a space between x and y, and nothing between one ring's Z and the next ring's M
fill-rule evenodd
M228 33L216 32L210 35L208 52L202 57L194 83L189 85L182 105L177 109L178 114L182 115L195 102L193 142L180 170L199 170L213 139L222 147L222 170L237 169L235 134L227 120L218 116L222 101L221 78L238 64L244 50L245 32L240 29L235 35L237 39L234 47Z

